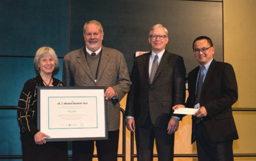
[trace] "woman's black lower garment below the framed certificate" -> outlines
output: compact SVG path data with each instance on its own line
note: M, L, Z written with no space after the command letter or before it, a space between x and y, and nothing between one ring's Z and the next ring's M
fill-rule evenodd
M35 144L33 137L22 136L23 160L68 160L67 142L47 142L44 145Z

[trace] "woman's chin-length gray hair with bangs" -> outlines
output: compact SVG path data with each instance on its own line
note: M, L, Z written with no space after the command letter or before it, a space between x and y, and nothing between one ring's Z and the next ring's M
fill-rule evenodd
M41 47L36 51L34 58L35 69L38 73L40 73L40 68L38 67L40 64L40 59L47 56L53 57L55 63L54 70L57 70L57 68L59 67L59 61L55 51L50 47Z

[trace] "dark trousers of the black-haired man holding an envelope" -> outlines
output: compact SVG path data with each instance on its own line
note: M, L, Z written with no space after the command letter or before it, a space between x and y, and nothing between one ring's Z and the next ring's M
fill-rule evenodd
M233 140L212 143L202 122L196 124L196 141L199 161L233 160Z

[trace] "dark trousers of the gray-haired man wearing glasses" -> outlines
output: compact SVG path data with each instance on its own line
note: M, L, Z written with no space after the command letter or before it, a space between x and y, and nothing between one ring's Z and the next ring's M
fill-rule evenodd
M167 128L154 127L150 115L148 114L146 123L135 129L135 139L137 147L138 160L153 160L154 140L156 139L156 148L158 160L173 160L174 157L174 134L169 135Z

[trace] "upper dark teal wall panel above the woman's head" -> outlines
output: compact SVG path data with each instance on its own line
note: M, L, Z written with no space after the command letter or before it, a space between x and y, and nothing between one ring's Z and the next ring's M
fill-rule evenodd
M1 0L0 55L34 56L42 46L69 51L69 0Z

